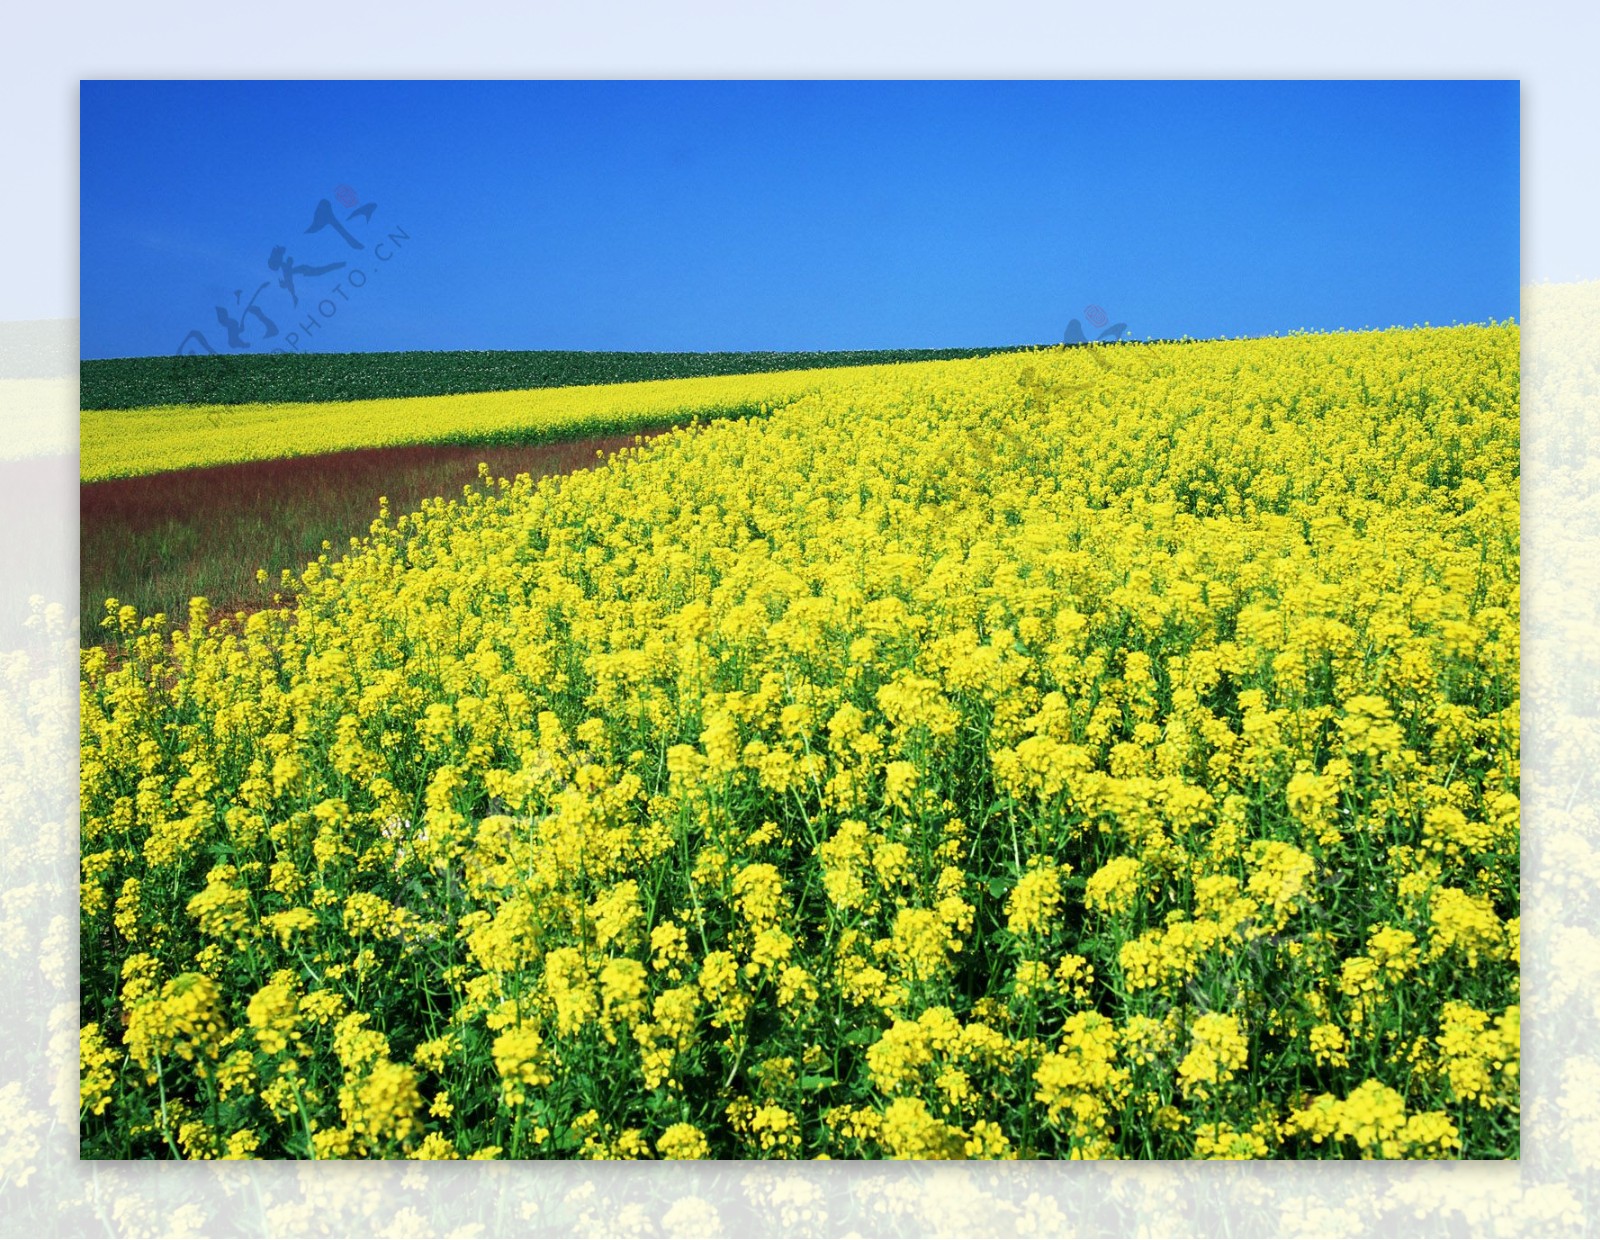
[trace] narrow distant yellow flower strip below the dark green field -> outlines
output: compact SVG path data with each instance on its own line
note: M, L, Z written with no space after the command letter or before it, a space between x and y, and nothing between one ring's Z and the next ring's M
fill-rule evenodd
M82 414L82 478L397 445L530 445L760 413L888 366L728 374L531 392L286 405L160 405Z

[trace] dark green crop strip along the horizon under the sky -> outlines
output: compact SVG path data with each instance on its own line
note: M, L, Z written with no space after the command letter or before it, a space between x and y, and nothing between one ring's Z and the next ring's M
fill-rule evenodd
M642 379L763 374L891 362L949 362L1008 354L995 349L854 349L803 354L602 354L602 352L411 352L411 354L218 354L120 357L82 363L80 408L146 405L248 405L254 402L381 400L461 392L520 392Z

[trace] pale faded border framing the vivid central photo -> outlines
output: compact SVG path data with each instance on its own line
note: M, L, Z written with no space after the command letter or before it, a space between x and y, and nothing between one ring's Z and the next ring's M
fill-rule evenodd
M157 8L173 13L157 21ZM581 16L515 18L466 3L8 14L0 320L67 322L0 322L0 469L11 480L0 496L11 526L0 536L0 1234L1600 1234L1600 99L1590 51L1600 18L1573 11L1538 5L1514 16L1502 3L1464 3L1445 16L1389 0L1307 18L1266 3L1146 0L784 13L598 3ZM112 75L1520 78L1522 1163L78 1163L75 101L78 78ZM1547 278L1563 283L1536 283ZM6 466L19 459L30 464Z

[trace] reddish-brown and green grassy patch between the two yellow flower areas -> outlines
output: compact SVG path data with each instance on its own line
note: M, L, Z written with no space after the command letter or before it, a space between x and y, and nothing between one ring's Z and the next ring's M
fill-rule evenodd
M282 589L278 570L299 573L322 554L349 550L387 496L394 515L435 496L459 498L477 483L478 462L496 478L568 474L597 453L630 448L650 434L595 435L538 446L360 448L325 456L182 469L139 478L80 483L82 642L106 638L106 600L141 616L165 611L186 624L189 598L205 595L214 614L253 611ZM269 582L258 584L266 568Z

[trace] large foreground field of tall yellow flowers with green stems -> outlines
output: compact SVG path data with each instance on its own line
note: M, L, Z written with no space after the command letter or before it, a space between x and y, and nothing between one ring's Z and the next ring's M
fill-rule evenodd
M107 603L83 1155L1517 1157L1518 330L778 378Z

